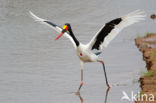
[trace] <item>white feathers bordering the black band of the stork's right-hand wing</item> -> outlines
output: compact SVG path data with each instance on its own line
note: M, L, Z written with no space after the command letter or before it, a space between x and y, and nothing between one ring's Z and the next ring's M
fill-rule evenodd
M140 10L136 10L134 12L131 12L125 16L122 16L121 19L122 21L116 25L114 27L114 29L104 38L104 42L102 43L101 46L107 47L108 44L110 43L110 41L112 41L116 35L125 27L132 25L134 23L139 22L140 20L145 20L145 14L143 11ZM103 26L104 27L104 26ZM102 28L103 28L102 27ZM101 28L101 29L102 29ZM101 30L100 29L100 30ZM100 32L100 31L99 31ZM96 36L98 35L98 33L96 33L96 35L92 38L92 40L87 44L89 49L91 49L91 46L93 45L93 43L96 41ZM100 46L100 47L101 47Z

